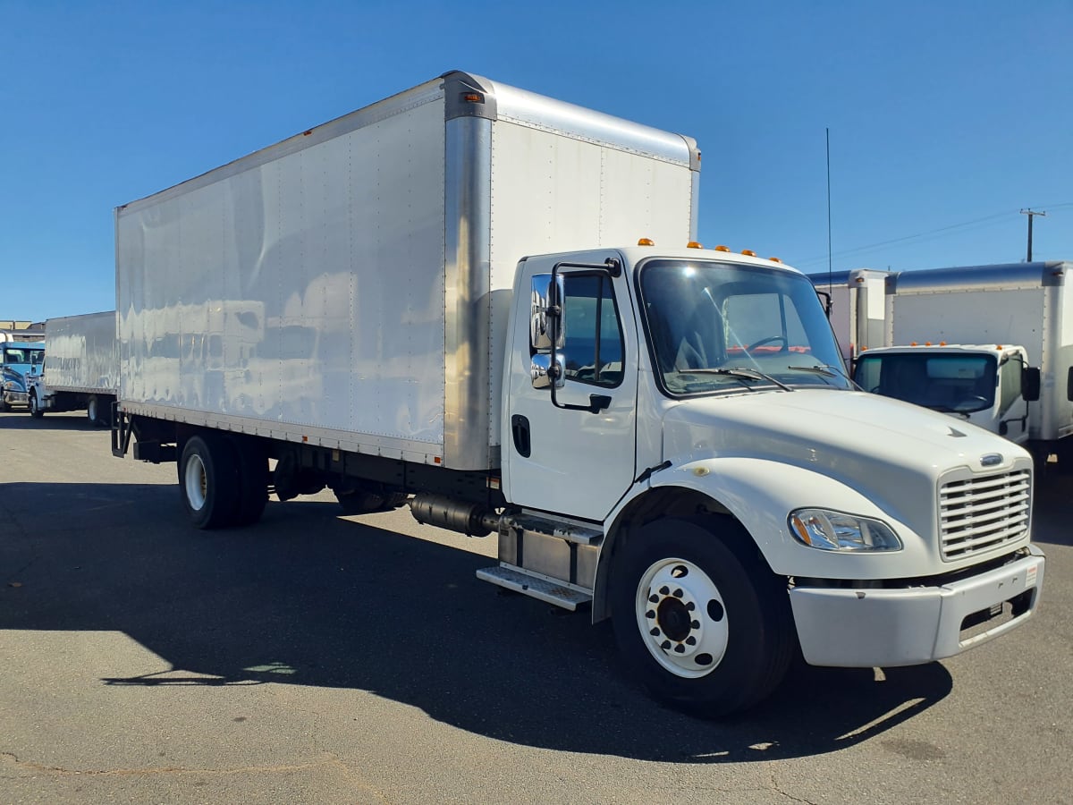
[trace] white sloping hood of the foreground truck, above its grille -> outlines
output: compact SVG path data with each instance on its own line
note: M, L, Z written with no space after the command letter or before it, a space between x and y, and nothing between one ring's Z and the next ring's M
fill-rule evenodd
M891 497L891 485L923 491L922 482L931 497L944 472L980 472L985 455L988 471L1028 457L995 434L908 402L807 389L684 401L665 414L663 445L664 459L675 463L736 456L792 464L873 499Z

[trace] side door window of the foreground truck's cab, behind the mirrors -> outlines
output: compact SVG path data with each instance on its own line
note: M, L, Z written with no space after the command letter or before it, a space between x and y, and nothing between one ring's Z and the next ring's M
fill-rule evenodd
M606 275L563 276L562 363L567 380L614 387L622 382L622 331Z

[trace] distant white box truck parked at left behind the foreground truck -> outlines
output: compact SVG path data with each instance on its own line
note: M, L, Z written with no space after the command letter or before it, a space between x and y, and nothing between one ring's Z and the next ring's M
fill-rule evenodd
M86 411L92 424L107 425L119 385L117 345L115 310L48 319L43 370L29 378L30 414Z

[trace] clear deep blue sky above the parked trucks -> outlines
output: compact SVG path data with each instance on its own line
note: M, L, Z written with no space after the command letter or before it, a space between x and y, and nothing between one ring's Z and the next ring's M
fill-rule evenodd
M115 307L113 208L460 69L696 137L700 237L1073 260L1073 0L0 0L0 319Z

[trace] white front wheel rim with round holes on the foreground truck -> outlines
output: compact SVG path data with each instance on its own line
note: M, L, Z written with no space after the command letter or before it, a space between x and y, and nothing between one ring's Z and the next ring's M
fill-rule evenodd
M686 559L660 559L637 584L637 628L649 654L675 676L711 673L726 654L726 606L715 582Z

